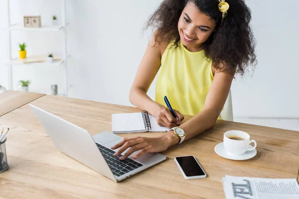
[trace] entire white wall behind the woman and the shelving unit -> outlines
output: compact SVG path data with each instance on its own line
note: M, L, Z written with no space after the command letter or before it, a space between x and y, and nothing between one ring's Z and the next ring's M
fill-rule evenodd
M6 0L1 0L0 26L6 23ZM149 41L142 34L148 16L161 0L67 0L69 96L74 98L131 105L129 90ZM253 76L237 78L232 85L236 117L299 118L299 16L297 0L247 0L252 9L252 26L258 41L259 64ZM3 5L3 6L2 6ZM14 11L13 11L14 10ZM277 11L277 12L276 12ZM42 23L51 15L60 15L60 0L11 0L12 23L24 14L40 14ZM0 32L0 43L6 43L6 32ZM13 55L17 42L25 41L34 53L60 52L61 33L13 33ZM41 44L41 42L46 42ZM0 84L7 87L5 45L0 48ZM32 80L31 90L48 88L63 81L57 68L14 67L14 84L20 79ZM15 88L16 89L16 88ZM154 85L149 90L154 97Z

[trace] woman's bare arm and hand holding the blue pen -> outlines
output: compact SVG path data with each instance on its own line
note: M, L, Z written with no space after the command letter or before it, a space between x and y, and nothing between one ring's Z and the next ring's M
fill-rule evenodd
M184 117L178 111L175 111L176 116L179 118L177 121L165 106L151 100L147 95L149 86L160 68L161 55L166 47L167 44L155 43L154 35L151 37L131 87L129 98L130 102L136 107L147 110L149 114L153 115L159 125L171 128L180 124Z

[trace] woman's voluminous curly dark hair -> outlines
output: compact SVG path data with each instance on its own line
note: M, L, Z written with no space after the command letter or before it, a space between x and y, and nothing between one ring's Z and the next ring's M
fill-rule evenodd
M216 69L244 75L249 65L257 64L256 42L249 24L251 11L244 0L226 0L229 9L222 23L222 12L218 9L219 0L164 0L146 24L146 28L157 30L156 43L174 41L172 47L179 46L177 23L189 2L194 3L199 11L216 22L215 31L202 45L205 56L212 60Z

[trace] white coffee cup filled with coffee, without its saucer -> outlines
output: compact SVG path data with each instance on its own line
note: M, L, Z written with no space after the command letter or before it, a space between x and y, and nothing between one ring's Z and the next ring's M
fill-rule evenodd
M249 148L249 144L252 142L254 142L254 147ZM257 142L250 140L248 133L239 130L226 131L223 136L223 144L225 150L233 155L241 155L257 147Z

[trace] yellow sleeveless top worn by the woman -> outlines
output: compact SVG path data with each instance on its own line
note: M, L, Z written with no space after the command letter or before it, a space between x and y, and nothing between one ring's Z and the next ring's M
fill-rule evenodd
M203 51L190 52L180 42L176 49L170 42L161 58L155 85L155 101L166 106L167 96L172 108L182 114L196 115L204 102L213 81L212 61ZM222 119L219 115L218 119Z

